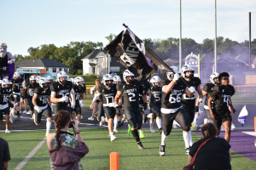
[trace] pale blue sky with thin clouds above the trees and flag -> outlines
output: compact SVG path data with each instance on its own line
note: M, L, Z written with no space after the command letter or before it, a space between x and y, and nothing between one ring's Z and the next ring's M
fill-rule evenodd
M256 38L256 1L218 0L218 36L248 40L248 12L252 40ZM179 0L5 0L1 2L0 42L12 54L71 41L103 42L118 35L125 23L138 37L179 37ZM183 0L183 37L201 43L214 37L214 0Z

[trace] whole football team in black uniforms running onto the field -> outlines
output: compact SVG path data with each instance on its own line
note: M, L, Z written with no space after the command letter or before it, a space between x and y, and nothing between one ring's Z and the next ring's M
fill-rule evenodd
M223 126L224 139L229 142L232 115L236 112L230 99L235 94L234 87L229 83L230 75L227 72L212 73L210 82L201 90L201 79L194 77L192 65L183 65L181 71L177 66L170 68L172 72L166 72L166 78L154 76L143 83L137 81L129 70L123 72L123 81L116 75L104 75L102 83L96 80L96 87L91 89L94 98L90 109L93 112L88 119L94 120L96 117L100 125L108 122L111 141L117 139L117 128L127 121L128 133L132 134L139 149L144 149L140 140L144 138L143 124L149 119L150 131L154 133L155 121L161 135L160 156L165 156L166 139L172 133L173 122L177 122L183 129L185 153L189 155L193 144L191 123L206 96L204 110L207 122L214 124L217 135ZM23 113L30 114L36 125L40 124L42 115L46 118L46 136L51 127L51 117L58 111L68 111L79 124L86 91L83 77L67 80L67 73L60 71L55 82L51 77L32 76L25 83L20 74L15 72L10 82L3 79L0 83L0 111L3 113L0 114L0 120L3 121L4 115L6 133L10 133L9 122L13 122L13 116L20 117L21 103L25 100L30 111L25 110ZM147 108L149 114L145 114ZM124 113L123 117L121 111Z

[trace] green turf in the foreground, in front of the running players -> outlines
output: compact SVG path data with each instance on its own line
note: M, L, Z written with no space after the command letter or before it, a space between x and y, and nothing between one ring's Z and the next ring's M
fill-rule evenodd
M183 169L188 163L185 155L181 129L173 129L166 142L166 156L158 156L160 134L144 129L142 139L145 150L137 149L135 139L126 129L119 130L117 140L110 142L107 128L80 129L89 153L81 160L84 169L109 169L109 154L119 152L119 169ZM51 131L53 133L53 131ZM9 142L11 161L9 169L15 169L35 147L44 139L45 131L1 133ZM192 133L194 142L201 136ZM255 169L256 162L233 152L232 169ZM49 153L44 145L32 156L22 169L49 169Z

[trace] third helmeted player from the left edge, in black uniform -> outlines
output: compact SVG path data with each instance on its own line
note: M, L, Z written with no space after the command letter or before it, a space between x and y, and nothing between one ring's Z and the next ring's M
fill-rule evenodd
M32 104L32 97L36 88L38 87L37 79L34 76L29 77L29 82L26 82L25 87L22 89L23 93L26 90L27 93L27 103L30 107L31 116L33 116L34 105ZM24 95L24 94L23 94Z

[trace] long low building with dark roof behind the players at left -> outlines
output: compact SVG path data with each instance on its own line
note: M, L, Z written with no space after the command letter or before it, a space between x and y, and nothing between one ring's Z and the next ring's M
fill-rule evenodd
M66 71L67 75L72 72L69 71L69 66L61 64L53 59L23 59L20 62L15 62L16 71L24 75L24 78L30 76L51 76L54 79L57 77L59 71Z

